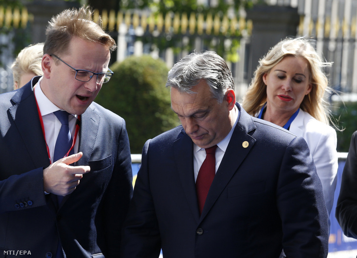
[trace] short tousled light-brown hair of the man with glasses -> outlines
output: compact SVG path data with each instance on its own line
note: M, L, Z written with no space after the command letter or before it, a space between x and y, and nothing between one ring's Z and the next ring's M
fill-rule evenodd
M110 51L115 50L114 39L102 28L101 17L95 23L92 9L81 7L78 10L66 9L51 19L46 29L45 54L66 54L69 42L73 37L101 43Z

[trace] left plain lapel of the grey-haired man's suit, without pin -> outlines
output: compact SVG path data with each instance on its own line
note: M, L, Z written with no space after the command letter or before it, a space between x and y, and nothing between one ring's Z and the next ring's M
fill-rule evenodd
M199 211L193 173L193 143L184 129L180 135L181 137L174 142L173 147L177 172L193 217L198 222Z

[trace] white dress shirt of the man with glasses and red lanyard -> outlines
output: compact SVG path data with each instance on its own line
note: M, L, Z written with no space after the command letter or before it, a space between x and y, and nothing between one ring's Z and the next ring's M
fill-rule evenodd
M56 139L59 133L59 129L61 128L62 125L53 112L60 110L60 108L57 107L54 103L52 103L43 93L41 89L41 80L42 77L35 85L34 94L36 97L38 108L40 109L41 112L43 126L45 129L46 143L50 151L49 154L51 157L51 162L53 162ZM77 115L71 115L69 117L68 122L69 122L69 129L73 139L76 131ZM78 152L78 142L79 140L77 140L75 143L74 153Z

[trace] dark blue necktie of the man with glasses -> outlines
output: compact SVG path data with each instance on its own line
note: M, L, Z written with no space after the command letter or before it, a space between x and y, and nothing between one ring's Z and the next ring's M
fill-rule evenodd
M72 137L68 126L69 113L63 110L54 112L55 116L61 122L62 126L59 129L59 133L55 145L54 162L64 157L72 146Z

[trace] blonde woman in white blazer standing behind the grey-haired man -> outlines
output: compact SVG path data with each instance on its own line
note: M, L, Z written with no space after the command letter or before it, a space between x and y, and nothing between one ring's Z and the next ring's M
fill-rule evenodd
M244 109L302 136L314 159L330 214L337 181L337 136L325 100L328 79L309 40L286 38L260 61L243 99ZM333 125L334 126L334 125Z

